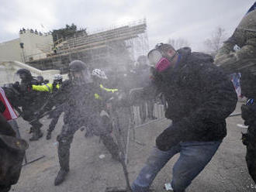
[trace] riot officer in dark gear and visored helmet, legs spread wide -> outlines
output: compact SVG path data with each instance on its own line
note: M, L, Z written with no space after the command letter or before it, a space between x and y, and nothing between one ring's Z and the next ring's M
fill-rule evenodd
M81 127L94 129L95 135L104 139L103 143L109 149L109 153L112 156L119 156L118 147L100 117L98 101L95 99L95 84L88 66L81 60L72 61L69 64L69 77L70 80L64 81L54 95L56 102L64 104L64 125L61 134L57 135L61 170L57 173L55 185L61 184L69 171L71 142L74 133Z

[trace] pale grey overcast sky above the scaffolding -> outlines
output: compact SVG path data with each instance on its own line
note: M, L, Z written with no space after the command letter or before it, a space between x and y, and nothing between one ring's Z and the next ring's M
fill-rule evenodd
M22 27L46 32L74 23L92 33L146 18L150 48L169 38L182 38L189 41L192 50L202 50L216 27L226 29L230 36L254 1L2 0L0 43L18 38Z

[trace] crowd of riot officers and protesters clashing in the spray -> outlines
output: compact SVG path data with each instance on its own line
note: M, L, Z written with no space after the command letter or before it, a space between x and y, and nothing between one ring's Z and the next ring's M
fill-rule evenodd
M13 156L9 155L5 156L5 161L1 159L0 166L2 169L11 169L18 164L19 169L11 172L12 177L7 177L7 172L0 172L1 191L8 191L17 182L26 149L26 141L16 138L16 132L7 122L10 114L12 118L16 118L12 108L32 126L30 141L36 141L43 136L40 118L46 114L50 114L52 118L47 130L47 139L50 139L58 118L64 113L64 125L57 135L60 170L54 184L59 185L69 172L71 142L78 129L86 129L86 136L99 136L116 162L122 158L119 146L111 135L112 123L107 108L110 98L114 98L111 100L113 105L139 104L141 118L154 119L152 101L161 94L167 103L165 117L172 122L157 136L156 146L133 181L131 190L149 191L157 173L169 159L179 153L173 167L171 188L175 192L184 192L210 162L227 135L226 118L237 106L237 93L230 81L230 74L233 73L241 74L242 93L248 98L241 107L244 124L248 125L247 133L243 134L243 143L247 146L247 168L256 182L255 9L256 3L241 20L234 34L225 41L215 58L206 53L192 52L189 47L175 50L170 44L159 43L150 50L147 57L139 57L134 70L119 77L122 80L120 82L126 81L130 84L107 87L105 83L108 77L104 71L91 71L81 60L69 63L69 79L66 81L57 74L53 83L49 83L43 77L33 77L29 70L18 70L16 74L21 81L1 89L0 153L11 150L15 146L13 143L22 144L16 146L16 153L13 155L19 155L16 162L12 165L13 161L10 159ZM133 81L136 83L132 84ZM5 94L10 104L3 97ZM146 102L149 108L147 113L143 112ZM6 162L11 162L11 165L6 165ZM16 179L12 179L13 177Z

